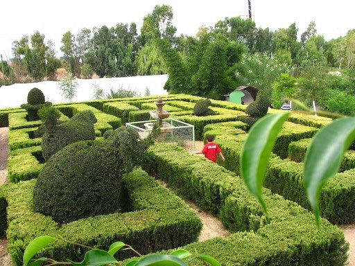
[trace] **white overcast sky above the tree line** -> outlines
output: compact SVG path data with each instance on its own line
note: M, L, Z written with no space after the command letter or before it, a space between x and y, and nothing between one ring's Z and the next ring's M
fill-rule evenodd
M214 26L225 17L248 17L248 0L3 0L0 53L3 60L12 57L12 42L24 35L31 36L36 30L45 35L45 42L53 41L57 51L68 30L77 35L82 28L110 28L131 22L140 30L144 16L162 4L173 8L173 25L178 35L195 36L200 26ZM344 36L355 28L353 0L251 0L251 4L252 17L261 28L277 30L295 22L300 36L309 22L315 21L318 34L326 40Z

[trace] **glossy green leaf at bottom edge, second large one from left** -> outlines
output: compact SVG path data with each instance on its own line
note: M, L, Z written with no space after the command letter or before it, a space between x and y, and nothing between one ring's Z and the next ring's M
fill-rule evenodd
M110 263L117 263L117 260L112 257L107 251L102 249L92 249L85 253L84 260L81 263L76 263L69 260L72 265L81 266L101 266Z

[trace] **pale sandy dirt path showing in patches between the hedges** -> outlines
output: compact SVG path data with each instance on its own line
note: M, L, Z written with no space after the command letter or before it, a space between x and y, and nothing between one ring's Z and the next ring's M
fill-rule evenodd
M196 141L196 151L203 148L202 141ZM0 185L6 183L7 180L7 160L8 160L8 127L0 127ZM221 222L212 215L201 211L196 204L187 202L191 208L196 211L202 221L202 231L199 241L204 241L209 238L226 237L230 234ZM355 224L349 224L340 227L344 231L345 239L350 244L349 251L349 266L355 266ZM0 265L12 266L10 255L7 252L8 240L0 238Z

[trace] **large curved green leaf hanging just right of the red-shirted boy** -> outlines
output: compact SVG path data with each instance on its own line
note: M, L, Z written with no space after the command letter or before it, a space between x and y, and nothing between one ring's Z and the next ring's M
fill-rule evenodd
M281 112L260 118L250 128L241 150L241 177L252 195L259 200L266 215L268 212L261 193L263 180L277 134L289 115L289 112Z

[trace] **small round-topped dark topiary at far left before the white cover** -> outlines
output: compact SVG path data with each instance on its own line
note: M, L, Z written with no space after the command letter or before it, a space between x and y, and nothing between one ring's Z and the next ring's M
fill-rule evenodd
M35 87L28 91L27 103L21 105L21 107L26 109L28 114L28 121L37 121L40 120L38 110L50 105L52 105L52 103L44 101L43 92Z

